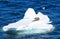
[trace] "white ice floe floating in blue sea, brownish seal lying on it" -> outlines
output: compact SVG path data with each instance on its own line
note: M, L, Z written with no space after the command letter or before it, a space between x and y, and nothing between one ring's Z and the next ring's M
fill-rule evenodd
M11 23L3 27L3 31L8 31L10 28L15 28L17 31L25 30L21 34L34 34L34 33L48 33L54 30L54 27L47 15L38 12L35 13L34 9L28 8L23 19L16 23ZM20 33L20 32L19 32Z

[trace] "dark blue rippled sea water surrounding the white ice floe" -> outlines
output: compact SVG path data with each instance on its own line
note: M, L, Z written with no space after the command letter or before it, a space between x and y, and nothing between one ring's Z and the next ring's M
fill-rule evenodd
M0 32L0 39L60 39L60 0L0 0L0 29L22 19L28 8L48 15L56 29L44 35L10 36Z

